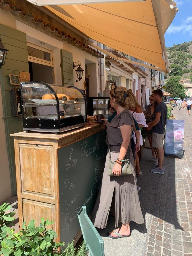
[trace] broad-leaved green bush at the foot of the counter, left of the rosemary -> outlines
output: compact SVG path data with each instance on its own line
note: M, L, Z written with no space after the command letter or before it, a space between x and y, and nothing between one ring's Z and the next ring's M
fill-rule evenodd
M46 226L52 224L53 221L41 219L39 227L35 227L35 221L32 219L26 226L26 222L22 224L22 230L14 233L14 229L3 226L2 232L7 237L1 242L0 255L4 256L23 256L23 255L39 255L39 256L55 256L58 255L58 248L64 245L63 242L55 243L54 239L57 234ZM5 236L6 236L5 235Z

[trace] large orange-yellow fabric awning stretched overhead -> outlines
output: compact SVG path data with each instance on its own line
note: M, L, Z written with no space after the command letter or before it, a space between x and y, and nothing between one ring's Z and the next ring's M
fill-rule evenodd
M178 11L174 1L28 1L46 5L46 9L89 38L169 72L164 34Z

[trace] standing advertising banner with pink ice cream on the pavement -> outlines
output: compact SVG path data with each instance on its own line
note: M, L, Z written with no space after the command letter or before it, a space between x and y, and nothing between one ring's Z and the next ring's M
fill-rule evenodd
M183 158L184 120L167 119L165 133L165 156Z

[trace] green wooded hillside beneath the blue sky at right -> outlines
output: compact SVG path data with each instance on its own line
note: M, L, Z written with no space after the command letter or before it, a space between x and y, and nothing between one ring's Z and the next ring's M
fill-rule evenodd
M170 74L169 79L164 74L165 91L172 93L173 97L186 98L186 90L179 80L191 79L192 82L192 41L168 47L167 56Z

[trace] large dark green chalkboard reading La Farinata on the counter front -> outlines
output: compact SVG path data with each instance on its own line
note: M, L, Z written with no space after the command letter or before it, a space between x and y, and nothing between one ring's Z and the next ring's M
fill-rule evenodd
M72 241L80 230L77 213L92 213L105 166L106 130L58 149L60 241Z

